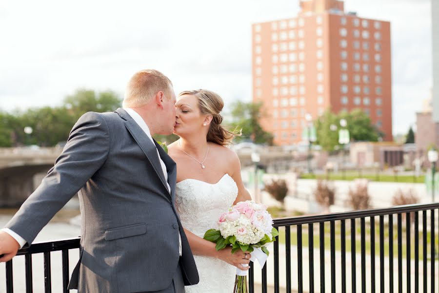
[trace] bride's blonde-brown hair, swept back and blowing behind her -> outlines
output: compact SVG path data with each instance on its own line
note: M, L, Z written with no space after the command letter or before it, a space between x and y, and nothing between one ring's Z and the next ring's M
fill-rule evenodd
M209 131L207 132L207 141L216 143L220 146L228 145L232 140L241 136L239 130L228 130L221 125L222 116L220 112L224 106L220 95L207 89L186 90L179 94L193 95L198 99L198 106L202 115L212 115L212 121L210 122Z

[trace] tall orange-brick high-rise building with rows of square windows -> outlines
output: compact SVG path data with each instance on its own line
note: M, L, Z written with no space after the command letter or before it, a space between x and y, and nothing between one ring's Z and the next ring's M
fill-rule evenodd
M392 141L390 22L345 13L340 0L302 0L300 7L297 17L252 26L262 126L276 144L291 145L308 127L305 114L360 108Z

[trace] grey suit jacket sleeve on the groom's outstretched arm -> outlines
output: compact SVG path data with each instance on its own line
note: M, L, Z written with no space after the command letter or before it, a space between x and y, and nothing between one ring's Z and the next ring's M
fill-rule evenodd
M101 114L85 113L73 126L60 157L41 185L5 226L29 246L40 230L104 164L110 148L108 126Z

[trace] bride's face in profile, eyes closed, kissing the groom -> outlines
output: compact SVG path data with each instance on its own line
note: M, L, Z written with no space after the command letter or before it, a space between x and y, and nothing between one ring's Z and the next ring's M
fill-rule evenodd
M176 124L174 133L178 136L200 132L205 116L201 115L198 99L194 95L181 95L177 98Z

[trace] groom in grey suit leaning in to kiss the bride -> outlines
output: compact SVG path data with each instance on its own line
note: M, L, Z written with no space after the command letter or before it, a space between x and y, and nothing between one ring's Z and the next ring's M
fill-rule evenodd
M171 81L143 70L127 86L124 109L84 114L40 187L0 231L0 261L29 246L79 192L80 260L69 289L182 293L197 284L174 206L176 165L151 137L174 131L175 102Z

